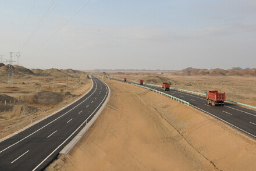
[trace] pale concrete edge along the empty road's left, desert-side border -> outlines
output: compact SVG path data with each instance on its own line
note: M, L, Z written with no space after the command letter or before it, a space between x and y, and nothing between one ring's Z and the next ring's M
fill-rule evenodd
M34 124L37 124L37 123L41 122L42 120L45 120L45 119L47 119L48 117L51 117L52 115L55 115L56 113L62 111L63 109L67 108L68 106L70 106L70 105L74 104L75 102L79 101L79 99L83 98L85 95L87 95L87 94L93 89L93 85L94 85L93 79L91 79L91 81L92 81L91 88L90 88L90 90L88 90L88 91L86 92L86 94L82 95L80 98L78 98L78 99L76 99L75 101L71 102L70 104L64 106L63 108L59 109L58 111L52 113L51 115L45 116L45 117L43 117L42 119L37 120L37 122L34 122L34 123L32 123L32 124L29 124L28 126L24 127L23 129L20 129L20 130L16 131L15 133L10 134L9 136L6 136L6 137L1 138L1 139L0 139L0 143L1 143L2 141L7 140L7 139L10 138L10 137L15 136L16 134L19 134L20 132L22 132L22 131L24 131L24 130L26 130L26 129L29 129L29 128L30 128L31 126L33 126Z

